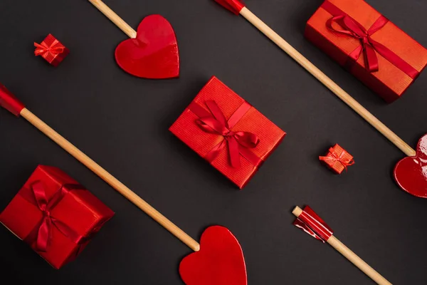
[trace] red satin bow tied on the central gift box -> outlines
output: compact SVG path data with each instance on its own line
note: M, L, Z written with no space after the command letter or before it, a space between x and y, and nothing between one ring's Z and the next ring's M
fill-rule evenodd
M197 125L207 133L214 133L222 135L222 140L216 145L207 155L206 160L213 161L223 148L228 145L228 154L230 156L231 165L233 167L240 167L240 154L243 148L255 148L260 139L257 135L249 132L234 132L230 130L233 123L236 122L236 118L231 118L227 121L223 115L221 109L218 107L214 100L206 101L206 105L211 111L210 116L201 117L196 120Z

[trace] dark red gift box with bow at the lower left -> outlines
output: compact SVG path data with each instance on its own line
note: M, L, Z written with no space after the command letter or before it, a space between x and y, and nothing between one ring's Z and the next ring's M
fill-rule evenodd
M73 261L114 215L56 167L39 165L0 214L0 222L51 266Z

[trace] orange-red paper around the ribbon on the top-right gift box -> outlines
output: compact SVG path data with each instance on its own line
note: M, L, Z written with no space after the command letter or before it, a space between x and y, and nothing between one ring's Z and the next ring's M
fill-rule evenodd
M351 16L359 24L362 24L367 30L381 16L378 11L363 0L329 0L329 2ZM332 19L332 14L320 7L307 22L305 36L344 66L349 54L357 46L360 46L360 41L357 38L330 31L326 25L330 19ZM421 73L426 67L426 48L423 48L391 21L379 31L376 31L372 38L396 53L416 71ZM378 53L376 55L379 61L379 71L369 73L365 68L364 56L361 56L357 63L352 66L351 72L384 100L392 102L400 98L414 80L404 71L387 61L386 58Z

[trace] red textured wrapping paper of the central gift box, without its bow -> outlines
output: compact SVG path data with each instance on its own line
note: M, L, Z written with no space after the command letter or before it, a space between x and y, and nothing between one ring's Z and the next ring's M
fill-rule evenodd
M202 108L206 115L211 115L208 105L212 101L214 101L214 105L218 106L228 121L231 121L231 118L236 118L236 113L241 113L241 115L237 116L239 119L237 123L234 122L235 124L231 124L233 125L230 128L231 132L236 132L236 134L241 135L241 138L253 138L253 136L258 138L258 143L255 143L255 145L251 145L248 148L243 147L244 150L241 150L238 156L240 158L238 160L240 163L238 164L240 165L231 161L229 145L223 147L223 149L216 153L216 156L212 157L213 150L218 145L221 145L221 142L226 144L227 139L223 135L209 133L209 131L201 128L200 120L204 118L194 113L194 110L197 109L194 108L194 105L198 105L198 108ZM243 112L241 112L242 110ZM169 130L177 138L186 143L186 145L191 147L192 150L197 152L197 154L208 160L212 166L228 177L240 189L246 186L260 165L278 147L286 135L283 130L280 130L268 118L265 118L263 114L249 105L215 76L204 86ZM246 135L241 133L245 133ZM257 160L259 161L257 162Z

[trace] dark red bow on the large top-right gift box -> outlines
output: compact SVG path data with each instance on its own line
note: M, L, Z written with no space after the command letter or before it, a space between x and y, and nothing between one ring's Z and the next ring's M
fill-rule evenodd
M364 59L365 59L365 66L367 68L367 71L369 72L376 72L379 71L379 63L378 63L378 57L376 56L376 52L382 53L388 53L389 49L383 46L381 43L374 41L371 36L376 32L379 31L382 27L384 27L385 24L389 22L386 17L381 16L374 25L367 30L362 26L361 24L357 23L357 21L354 21L350 16L346 15L339 15L334 16L332 19L329 19L327 21L327 28L330 28L330 30L335 31L337 33L344 33L348 36L352 36L353 38L358 38L361 45L358 46L352 53L349 54L349 57L352 58L354 61L357 61L359 57L364 53ZM337 28L334 28L332 26L333 23L339 24L339 26L342 26L344 30L339 30Z

